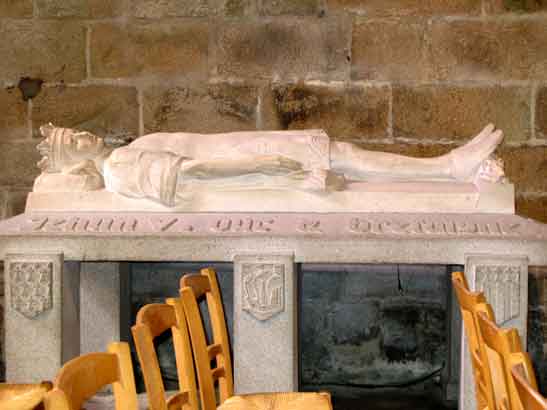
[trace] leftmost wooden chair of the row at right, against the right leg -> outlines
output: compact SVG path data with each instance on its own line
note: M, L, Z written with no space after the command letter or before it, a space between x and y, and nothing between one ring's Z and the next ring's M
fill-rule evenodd
M494 390L490 369L486 362L486 350L481 343L481 334L478 327L476 309L486 304L482 292L471 292L463 272L452 273L452 285L458 298L462 321L469 345L471 366L475 379L475 395L478 410L494 410Z

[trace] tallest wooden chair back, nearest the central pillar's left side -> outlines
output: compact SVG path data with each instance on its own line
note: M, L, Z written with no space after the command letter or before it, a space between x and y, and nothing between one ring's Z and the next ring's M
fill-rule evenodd
M216 410L215 382L218 381L219 384L220 403L233 396L234 387L228 330L215 271L202 269L199 274L184 275L181 279L180 293L192 340L202 410ZM211 345L207 344L198 306L198 301L203 296L207 299L211 320ZM216 362L214 368L211 366L213 359Z

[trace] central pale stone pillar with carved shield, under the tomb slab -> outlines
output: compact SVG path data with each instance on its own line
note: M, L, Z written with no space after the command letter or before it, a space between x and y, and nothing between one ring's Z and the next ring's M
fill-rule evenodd
M293 255L234 257L237 394L298 390L296 289Z

